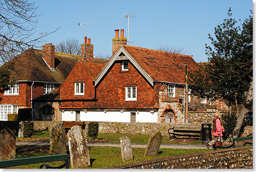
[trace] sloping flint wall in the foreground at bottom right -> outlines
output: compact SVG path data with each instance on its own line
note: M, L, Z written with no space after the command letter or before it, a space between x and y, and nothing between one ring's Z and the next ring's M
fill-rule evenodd
M241 169L253 168L253 147L222 149L170 156L108 167L108 169Z

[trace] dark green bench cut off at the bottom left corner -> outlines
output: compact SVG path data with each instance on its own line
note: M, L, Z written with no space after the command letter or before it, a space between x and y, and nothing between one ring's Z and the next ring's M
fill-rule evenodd
M38 157L29 157L29 158L20 158L15 160L5 160L0 161L0 168L5 167L14 167L17 165L27 165L27 164L35 164L35 163L44 163L44 162L52 162L52 161L63 161L65 163L58 167L52 167L47 164L40 165L39 168L49 168L49 169L60 169L60 168L69 168L70 164L70 156L69 154L60 154L60 155L50 155L50 156L38 156Z

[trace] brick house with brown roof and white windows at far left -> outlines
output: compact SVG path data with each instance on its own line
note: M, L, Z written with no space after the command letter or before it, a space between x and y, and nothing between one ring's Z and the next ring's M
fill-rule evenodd
M58 88L80 59L80 55L54 52L54 45L49 43L42 50L29 48L11 60L15 67L10 79L16 82L0 93L0 120L7 120L8 113L19 109L31 109L31 100ZM42 107L41 111L53 113L51 106Z

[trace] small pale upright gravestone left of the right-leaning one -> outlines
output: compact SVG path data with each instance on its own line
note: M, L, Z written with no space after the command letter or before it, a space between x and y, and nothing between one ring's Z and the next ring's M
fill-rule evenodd
M121 137L120 139L120 146L121 146L121 155L123 161L132 161L132 146L131 146L131 139L129 137Z

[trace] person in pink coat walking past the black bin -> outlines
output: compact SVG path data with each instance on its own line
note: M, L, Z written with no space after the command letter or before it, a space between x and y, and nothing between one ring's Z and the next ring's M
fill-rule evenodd
M218 137L221 136L221 141L223 142L222 139L222 131L224 132L224 128L223 126L221 126L221 120L220 120L220 112L216 112L216 117L214 117L214 121L213 121L213 130L212 130L212 136L214 136L214 139L212 139L211 142L209 142L208 144L206 144L207 148L209 149L209 147L213 144L215 144L215 142L217 141Z

